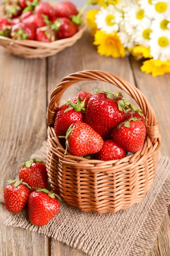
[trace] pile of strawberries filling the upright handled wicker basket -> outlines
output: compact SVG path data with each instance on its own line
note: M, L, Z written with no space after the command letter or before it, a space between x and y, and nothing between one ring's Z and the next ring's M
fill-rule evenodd
M97 89L94 95L81 91L62 105L54 131L67 150L97 160L122 159L142 149L146 137L145 119L122 93Z

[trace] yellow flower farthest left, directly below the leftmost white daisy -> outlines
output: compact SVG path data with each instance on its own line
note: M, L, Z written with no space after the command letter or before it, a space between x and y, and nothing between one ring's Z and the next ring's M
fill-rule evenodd
M94 37L94 45L97 45L97 52L100 55L112 56L113 58L125 57L125 48L121 44L117 33L105 34L98 30Z

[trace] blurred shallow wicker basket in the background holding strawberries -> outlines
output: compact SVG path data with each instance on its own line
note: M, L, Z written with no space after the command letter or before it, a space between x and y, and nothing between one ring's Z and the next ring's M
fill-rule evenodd
M3 16L3 9L4 4L0 3L0 17ZM0 36L0 45L12 54L23 58L45 58L52 56L61 52L66 47L74 45L82 37L86 29L85 15L83 15L83 20L81 26L79 26L79 31L71 38L45 43L33 40L13 40Z

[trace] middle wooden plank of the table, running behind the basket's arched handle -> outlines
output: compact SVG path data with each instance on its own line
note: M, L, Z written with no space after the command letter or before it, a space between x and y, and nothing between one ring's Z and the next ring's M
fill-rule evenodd
M85 35L73 47L69 47L56 56L48 58L48 102L51 92L56 85L70 73L81 70L104 70L116 73L127 81L134 83L129 59L100 56L93 45L93 38L86 32ZM93 93L94 88L100 87L108 91L118 90L115 86L98 81L82 81L72 85L63 94L61 105L71 99L80 90L88 90ZM125 93L123 93L125 95ZM51 240L51 256L85 256L80 250L75 250L54 239Z

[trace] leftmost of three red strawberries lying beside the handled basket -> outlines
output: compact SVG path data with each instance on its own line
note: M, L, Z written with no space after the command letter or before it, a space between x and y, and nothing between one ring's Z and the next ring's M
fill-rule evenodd
M6 209L9 212L20 212L28 202L30 190L22 181L8 180L3 196Z

